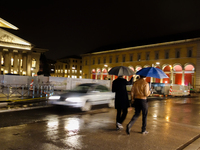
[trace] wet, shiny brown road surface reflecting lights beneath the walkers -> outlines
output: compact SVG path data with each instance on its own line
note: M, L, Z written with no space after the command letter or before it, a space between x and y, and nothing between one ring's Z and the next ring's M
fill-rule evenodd
M124 126L134 111L129 111ZM148 135L141 117L131 135L115 130L115 109L88 113L43 108L0 113L1 149L177 149L200 134L200 98L150 100ZM9 127L10 126L10 127Z

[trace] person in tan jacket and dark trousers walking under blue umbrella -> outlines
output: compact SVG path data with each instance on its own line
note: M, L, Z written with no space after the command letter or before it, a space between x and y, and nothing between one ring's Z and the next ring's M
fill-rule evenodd
M133 115L131 121L126 126L126 133L130 135L130 129L140 116L142 111L142 134L149 133L146 131L147 125L147 113L148 113L148 102L147 97L150 95L149 83L146 81L145 76L140 76L140 79L134 82L131 88L131 102L135 106L135 114Z

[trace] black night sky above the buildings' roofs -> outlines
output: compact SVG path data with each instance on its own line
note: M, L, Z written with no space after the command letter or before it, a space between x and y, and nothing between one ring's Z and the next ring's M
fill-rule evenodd
M49 49L47 58L57 59L200 33L199 7L199 0L1 0L0 17L19 28L19 37Z

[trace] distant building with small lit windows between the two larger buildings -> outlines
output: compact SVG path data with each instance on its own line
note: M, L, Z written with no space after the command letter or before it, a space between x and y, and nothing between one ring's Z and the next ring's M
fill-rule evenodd
M55 63L53 77L82 78L82 59L80 56L68 56Z

